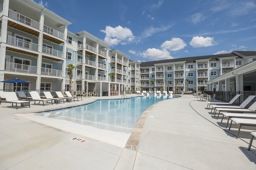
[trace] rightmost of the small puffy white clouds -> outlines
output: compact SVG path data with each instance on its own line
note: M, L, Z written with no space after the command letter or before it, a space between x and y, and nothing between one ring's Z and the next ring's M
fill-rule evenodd
M189 42L190 45L194 48L200 47L208 47L218 44L214 41L214 37L193 37L192 40Z

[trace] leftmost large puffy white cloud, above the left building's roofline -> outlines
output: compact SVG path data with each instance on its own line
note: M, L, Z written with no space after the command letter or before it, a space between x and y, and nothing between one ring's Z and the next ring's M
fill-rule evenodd
M104 32L105 38L104 41L110 46L117 45L121 43L122 45L132 42L134 40L134 35L129 28L123 28L122 26L117 26L115 28L111 26L106 26L105 30L100 30Z

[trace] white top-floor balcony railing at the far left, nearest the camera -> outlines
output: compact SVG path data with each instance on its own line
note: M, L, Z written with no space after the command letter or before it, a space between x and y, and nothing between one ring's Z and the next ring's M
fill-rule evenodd
M39 29L40 28L40 23L30 19L29 17L25 17L22 14L17 13L16 11L12 11L9 9L9 18L12 18L20 23L26 24L27 26L31 26L33 28Z

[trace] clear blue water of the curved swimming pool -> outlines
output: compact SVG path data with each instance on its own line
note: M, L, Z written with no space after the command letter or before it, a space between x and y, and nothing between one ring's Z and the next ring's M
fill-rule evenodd
M172 96L177 98L178 96ZM131 133L140 115L151 105L170 96L143 96L130 99L97 100L73 108L37 113L38 116L61 119L99 129Z

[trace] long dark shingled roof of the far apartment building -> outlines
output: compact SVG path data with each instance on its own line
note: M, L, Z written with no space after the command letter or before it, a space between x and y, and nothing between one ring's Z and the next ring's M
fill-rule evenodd
M168 63L168 62L185 62L185 63L192 63L195 62L195 60L198 59L209 59L209 61L218 61L218 58L222 57L239 57L236 54L233 54L234 51L227 54L216 54L216 55L208 55L208 56L197 56L197 57L184 57L184 58L175 58L175 59L164 59L164 60L158 60L158 61L149 61L149 62L142 62L140 64L140 67L152 67L154 64L160 64L160 63ZM248 56L256 56L256 51L235 51L236 53L239 53L245 57Z

